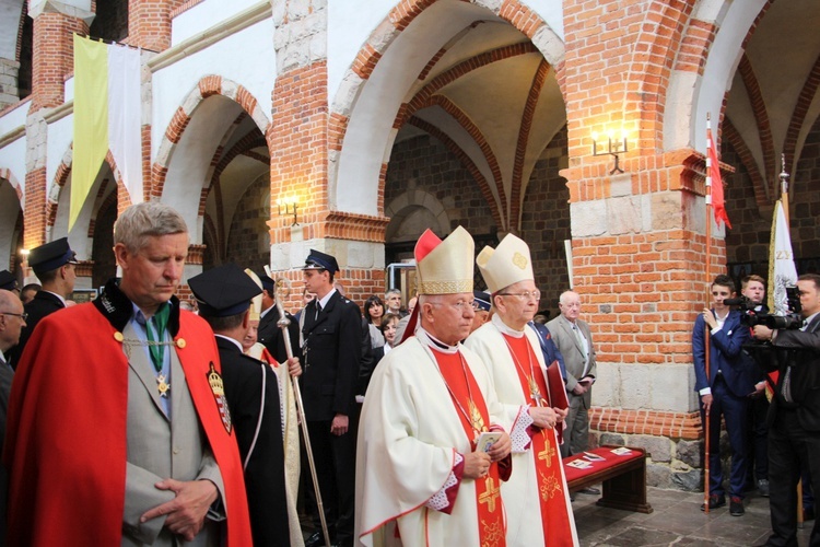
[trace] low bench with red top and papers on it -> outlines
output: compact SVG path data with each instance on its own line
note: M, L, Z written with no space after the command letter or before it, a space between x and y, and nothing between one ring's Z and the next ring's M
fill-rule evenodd
M630 446L632 453L621 456L612 453L612 449L618 447L601 446L588 451L605 461L589 462L591 466L585 469L566 465L575 459L586 459L583 453L565 457L564 473L570 492L600 482L604 488L598 505L652 513L652 505L646 500L646 451Z

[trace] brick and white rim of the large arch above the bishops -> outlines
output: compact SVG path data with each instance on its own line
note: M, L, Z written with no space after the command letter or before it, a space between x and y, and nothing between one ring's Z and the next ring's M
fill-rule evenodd
M565 75L564 75L564 57L565 49L563 40L549 27L549 25L538 15L536 12L530 10L525 3L518 0L504 0L497 5L488 7L487 2L481 0L465 0L468 3L480 5L483 9L488 9L491 13L499 16L500 19L509 23L513 27L518 30L522 34L529 38L530 44L534 46L532 50L539 51L548 62L555 69L557 80L561 89L561 93L564 98L566 97L565 91ZM330 163L330 170L328 172L328 193L331 197L339 187L340 174L344 176L348 170L343 166L344 151L343 144L345 137L349 136L351 116L353 110L362 96L365 85L371 80L373 71L378 65L379 60L384 57L388 48L395 43L396 38L403 32L424 10L436 4L435 1L431 0L401 0L395 8L387 14L387 16L376 25L356 55L351 67L348 69L342 81L342 89L335 100L331 101L329 120L328 120L328 158ZM441 57L443 51L438 51L433 58ZM401 69L398 69L401 70ZM424 79L430 70L427 65L419 74L420 78ZM403 112L403 107L399 106L397 112L399 119L409 119L411 113ZM382 131L378 131L382 135ZM379 154L379 158L388 155L389 149L393 146L396 131L385 132L385 150L382 151L367 151L366 155ZM380 146L380 144L379 144ZM367 161L367 166L364 171L367 173L376 173L378 171L378 188L373 194L376 196L384 195L384 174L385 165L382 163L378 166L371 164ZM359 167L359 165L356 165ZM342 171L343 170L343 171ZM358 176L362 176L363 170L353 168L351 172L359 173ZM368 178L367 175L364 175ZM338 202L338 200L337 200ZM383 203L376 203L376 210L380 213Z

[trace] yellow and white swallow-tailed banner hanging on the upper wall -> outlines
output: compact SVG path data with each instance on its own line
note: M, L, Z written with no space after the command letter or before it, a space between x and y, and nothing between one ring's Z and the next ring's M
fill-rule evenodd
M132 203L142 201L140 51L74 35L71 230L110 150Z

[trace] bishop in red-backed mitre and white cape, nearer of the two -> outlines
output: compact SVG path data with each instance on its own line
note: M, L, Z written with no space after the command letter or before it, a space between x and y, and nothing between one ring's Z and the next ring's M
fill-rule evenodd
M364 545L505 545L511 441L484 365L460 344L475 315L473 248L460 226L443 242L427 230L415 245L421 326L411 321L415 336L380 361L362 408Z

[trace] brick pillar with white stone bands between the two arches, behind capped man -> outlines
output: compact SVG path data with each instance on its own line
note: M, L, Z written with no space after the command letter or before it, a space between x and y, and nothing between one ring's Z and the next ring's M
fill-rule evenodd
M297 268L311 248L336 256L338 280L360 305L384 290L387 219L333 211L328 199L327 4L274 2L277 83L271 128L271 268L301 284ZM297 202L279 217L280 201ZM298 294L292 294L296 303ZM289 306L290 307L290 306Z

